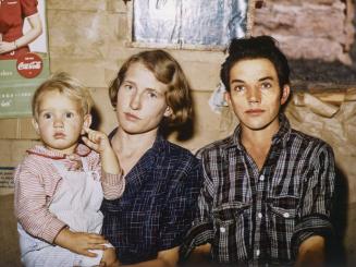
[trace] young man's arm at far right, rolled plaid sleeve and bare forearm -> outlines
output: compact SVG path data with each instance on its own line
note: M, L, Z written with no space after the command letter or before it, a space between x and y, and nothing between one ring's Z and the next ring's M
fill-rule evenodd
M298 209L298 222L292 238L297 266L323 266L326 242L332 234L330 221L334 191L334 157L327 144L315 148L307 180L303 181L303 199Z

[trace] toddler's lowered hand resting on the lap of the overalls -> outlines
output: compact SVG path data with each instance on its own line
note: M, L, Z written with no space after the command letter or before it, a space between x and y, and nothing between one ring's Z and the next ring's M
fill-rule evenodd
M60 245L71 252L95 257L97 254L89 252L89 250L105 250L103 244L108 243L106 239L96 233L72 232L64 228L54 239L54 244Z

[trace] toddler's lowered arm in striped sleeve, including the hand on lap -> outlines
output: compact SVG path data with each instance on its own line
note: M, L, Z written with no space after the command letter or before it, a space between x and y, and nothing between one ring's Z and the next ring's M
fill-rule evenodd
M17 167L15 181L15 216L23 229L35 238L60 245L72 252L96 256L88 250L103 250L103 236L93 233L70 231L65 223L51 214L47 207L45 184L41 174L44 162L27 158ZM52 180L56 181L56 175ZM98 245L101 244L101 245Z

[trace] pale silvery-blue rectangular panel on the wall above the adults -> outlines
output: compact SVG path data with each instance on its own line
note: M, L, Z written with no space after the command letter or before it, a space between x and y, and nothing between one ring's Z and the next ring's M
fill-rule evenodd
M133 0L132 45L222 50L251 27L254 0Z

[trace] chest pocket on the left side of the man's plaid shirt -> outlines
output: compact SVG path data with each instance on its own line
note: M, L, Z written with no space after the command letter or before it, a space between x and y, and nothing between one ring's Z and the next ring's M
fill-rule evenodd
M230 263L231 258L247 258L250 239L246 239L245 235L246 230L249 229L246 223L250 221L250 213L251 204L242 202L225 203L212 209L214 259L220 263Z

